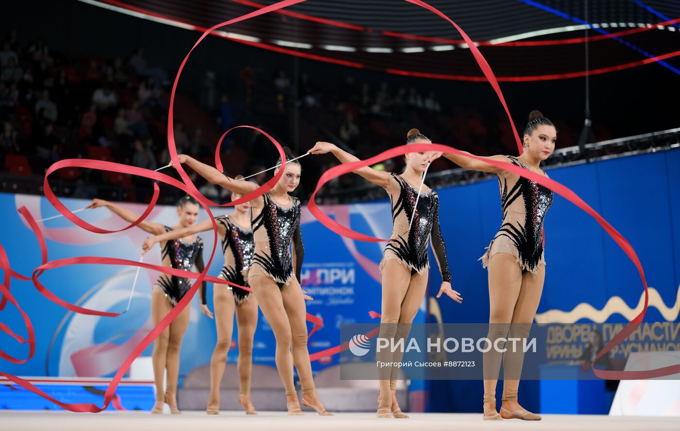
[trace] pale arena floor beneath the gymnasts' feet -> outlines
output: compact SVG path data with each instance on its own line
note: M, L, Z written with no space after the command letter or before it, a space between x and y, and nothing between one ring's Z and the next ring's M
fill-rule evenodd
M543 415L541 421L519 419L483 421L481 413L411 413L410 419L377 419L373 413L338 413L320 417L288 416L284 412L260 412L246 416L242 411L224 411L219 416L185 411L181 415L151 415L147 412L72 413L68 411L0 411L3 430L678 430L677 417L610 417L605 415ZM499 428L500 427L500 428ZM415 428L418 429L418 428Z

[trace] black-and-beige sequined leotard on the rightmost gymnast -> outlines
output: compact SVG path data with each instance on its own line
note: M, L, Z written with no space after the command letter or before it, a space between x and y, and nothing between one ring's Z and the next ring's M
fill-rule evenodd
M515 156L506 157L513 165L529 169ZM540 264L545 264L543 219L552 204L553 192L514 173L498 173L498 188L503 222L487 252L479 258L482 266L486 268L496 253L509 253L517 258L522 273L536 273Z

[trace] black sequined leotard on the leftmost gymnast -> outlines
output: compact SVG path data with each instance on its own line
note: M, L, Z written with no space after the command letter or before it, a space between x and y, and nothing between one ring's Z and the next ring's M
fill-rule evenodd
M171 227L164 226L165 232L172 230ZM203 240L197 236L194 242L185 243L182 239L171 239L165 241L161 250L161 261L164 266L172 266L175 269L191 271L194 263L196 269L203 271ZM184 277L161 274L156 280L156 286L161 288L172 305L176 305L184 294L189 290L193 281ZM203 291L205 291L205 281L203 281Z

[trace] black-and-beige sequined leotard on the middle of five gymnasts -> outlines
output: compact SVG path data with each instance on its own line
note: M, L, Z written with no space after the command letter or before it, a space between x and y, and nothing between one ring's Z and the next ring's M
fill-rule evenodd
M255 254L246 277L266 275L278 283L279 288L287 285L292 277L300 281L305 247L300 231L300 200L290 196L292 205L280 207L269 193L262 196L262 211L251 215ZM295 251L295 273L290 256L290 241Z

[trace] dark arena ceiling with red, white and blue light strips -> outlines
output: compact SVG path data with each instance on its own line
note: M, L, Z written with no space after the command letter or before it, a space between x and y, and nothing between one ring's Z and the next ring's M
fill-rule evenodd
M276 3L80 1L196 31ZM586 40L589 73L644 66L665 67L668 73L680 75L677 0L428 3L475 41L501 82L583 76ZM308 0L222 27L214 35L349 67L445 80L485 80L452 24L403 0Z

